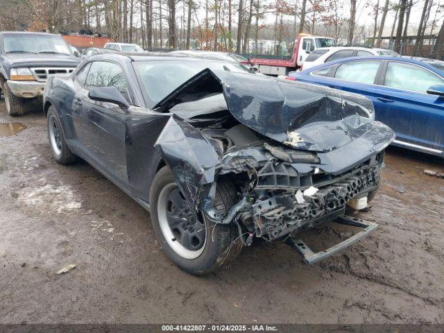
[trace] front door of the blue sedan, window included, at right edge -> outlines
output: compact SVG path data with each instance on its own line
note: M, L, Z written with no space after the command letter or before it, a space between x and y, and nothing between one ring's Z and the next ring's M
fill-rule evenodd
M400 142L444 151L444 99L427 94L430 86L444 85L444 78L411 63L389 61L385 67L377 119L390 126Z

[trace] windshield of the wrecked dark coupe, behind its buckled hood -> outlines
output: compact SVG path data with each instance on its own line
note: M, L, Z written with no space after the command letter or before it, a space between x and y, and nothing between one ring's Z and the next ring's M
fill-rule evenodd
M250 73L237 62L157 60L133 62L133 65L151 106L162 101L173 90L206 68Z

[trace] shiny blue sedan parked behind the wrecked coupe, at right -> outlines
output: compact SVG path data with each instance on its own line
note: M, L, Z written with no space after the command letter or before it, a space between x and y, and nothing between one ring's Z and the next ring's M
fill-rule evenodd
M363 94L396 146L444 157L444 73L407 58L346 58L293 72L289 78Z

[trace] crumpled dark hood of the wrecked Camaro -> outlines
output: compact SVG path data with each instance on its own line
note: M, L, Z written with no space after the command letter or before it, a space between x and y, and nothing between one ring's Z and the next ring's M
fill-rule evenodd
M361 137L375 119L373 103L357 94L264 76L227 75L228 109L256 132L309 151L332 151Z

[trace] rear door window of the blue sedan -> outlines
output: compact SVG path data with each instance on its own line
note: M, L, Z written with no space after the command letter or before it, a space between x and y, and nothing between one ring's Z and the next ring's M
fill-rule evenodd
M374 83L380 63L379 61L346 62L336 69L334 77L361 83Z

